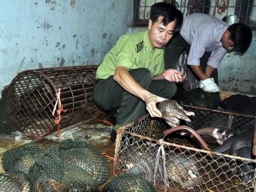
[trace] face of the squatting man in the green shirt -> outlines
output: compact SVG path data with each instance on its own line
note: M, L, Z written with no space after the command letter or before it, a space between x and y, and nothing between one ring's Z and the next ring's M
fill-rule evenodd
M153 50L155 48L162 48L164 45L166 45L174 33L176 22L172 21L167 26L164 26L162 19L163 17L158 17L157 22L154 24L152 23L151 19L149 19L149 40Z

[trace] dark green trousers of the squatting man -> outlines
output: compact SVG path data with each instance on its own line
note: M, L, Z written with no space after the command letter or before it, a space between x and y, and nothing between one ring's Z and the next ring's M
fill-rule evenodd
M129 73L144 89L159 97L171 99L177 91L177 86L173 82L152 80L150 71L146 68L132 69ZM126 92L114 81L113 76L95 84L93 99L96 105L103 110L118 109L116 123L121 126L146 115L145 102Z

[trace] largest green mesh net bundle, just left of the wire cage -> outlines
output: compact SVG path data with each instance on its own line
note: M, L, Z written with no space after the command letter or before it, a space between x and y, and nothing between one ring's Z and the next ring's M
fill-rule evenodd
M71 139L45 149L31 166L34 191L98 191L109 177L109 166L87 142Z

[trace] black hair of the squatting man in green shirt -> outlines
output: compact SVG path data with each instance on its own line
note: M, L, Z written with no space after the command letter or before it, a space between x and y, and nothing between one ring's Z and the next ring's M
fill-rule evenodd
M174 31L179 31L183 22L183 14L175 6L160 2L155 3L150 9L150 19L152 22L157 22L158 17L163 17L163 25L167 26L170 22L176 21Z

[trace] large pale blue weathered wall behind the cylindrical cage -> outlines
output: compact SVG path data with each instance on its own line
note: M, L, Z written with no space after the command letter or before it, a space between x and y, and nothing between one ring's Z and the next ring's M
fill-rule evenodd
M131 25L133 1L0 3L0 90L26 69L99 64Z

